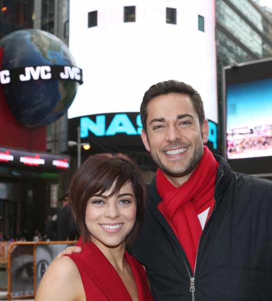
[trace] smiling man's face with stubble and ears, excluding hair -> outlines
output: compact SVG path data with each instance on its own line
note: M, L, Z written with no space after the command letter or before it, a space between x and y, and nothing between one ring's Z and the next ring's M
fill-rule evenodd
M147 110L147 133L142 131L142 139L155 163L172 177L192 173L203 155L209 127L207 120L200 127L191 97L160 95L149 102Z

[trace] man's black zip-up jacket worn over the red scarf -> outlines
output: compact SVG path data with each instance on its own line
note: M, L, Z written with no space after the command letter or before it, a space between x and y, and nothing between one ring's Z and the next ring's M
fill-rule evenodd
M146 266L156 301L272 300L272 182L234 173L214 157L220 163L215 207L200 238L195 273L157 208L156 178L147 190L146 218L131 254Z

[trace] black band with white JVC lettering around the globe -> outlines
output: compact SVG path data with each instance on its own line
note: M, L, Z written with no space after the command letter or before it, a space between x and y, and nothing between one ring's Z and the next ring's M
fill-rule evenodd
M83 83L82 69L74 66L30 66L0 71L0 83L3 85L47 79L76 80L81 85Z

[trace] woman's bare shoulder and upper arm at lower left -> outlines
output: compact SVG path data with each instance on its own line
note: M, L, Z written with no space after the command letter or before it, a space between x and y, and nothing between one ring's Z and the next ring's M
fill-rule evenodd
M35 301L85 301L78 268L67 256L54 260L38 287Z

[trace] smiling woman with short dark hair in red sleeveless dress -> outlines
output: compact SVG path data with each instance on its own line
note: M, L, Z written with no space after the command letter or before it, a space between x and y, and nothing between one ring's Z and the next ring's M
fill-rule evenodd
M87 159L72 179L69 204L80 229L78 254L54 260L36 301L151 301L143 266L130 256L145 214L145 183L123 155Z

